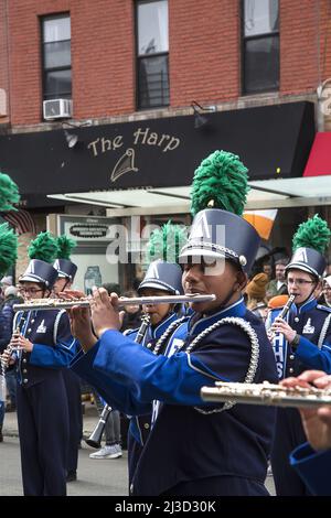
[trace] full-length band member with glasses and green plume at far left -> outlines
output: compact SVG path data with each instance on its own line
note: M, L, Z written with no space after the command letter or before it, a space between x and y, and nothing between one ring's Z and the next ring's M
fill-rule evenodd
M51 259L52 238L41 234L29 248L30 257ZM56 245L54 251L56 250ZM50 252L50 255L49 255ZM31 259L19 279L25 300L50 296L57 271ZM19 328L19 333L17 330ZM18 348L18 424L25 496L66 494L68 408L62 369L74 354L74 341L65 311L18 312L11 347Z

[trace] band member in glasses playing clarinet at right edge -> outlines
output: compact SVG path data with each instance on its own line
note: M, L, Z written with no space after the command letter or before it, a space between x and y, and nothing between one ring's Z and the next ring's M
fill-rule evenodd
M279 379L312 368L331 373L331 309L319 305L316 299L325 269L323 252L330 234L327 223L316 215L302 223L293 236L295 251L286 274L289 293L296 295L295 302L286 319L277 317L279 310L271 310L267 322L274 333ZM291 408L277 409L271 454L277 495L310 494L288 462L290 452L302 442L305 432L299 412Z

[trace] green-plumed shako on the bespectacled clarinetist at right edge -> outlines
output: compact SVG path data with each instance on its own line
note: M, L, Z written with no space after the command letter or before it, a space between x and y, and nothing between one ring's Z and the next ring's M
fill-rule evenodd
M329 245L330 235L327 222L318 214L301 223L293 236L293 255L286 267L286 272L301 270L320 279L327 266L323 253Z

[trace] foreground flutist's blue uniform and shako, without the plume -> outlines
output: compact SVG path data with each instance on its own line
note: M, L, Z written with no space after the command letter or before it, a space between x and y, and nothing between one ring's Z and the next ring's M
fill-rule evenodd
M217 240L220 225L226 229L226 247ZM202 211L181 259L212 251L247 272L258 244L257 233L243 218ZM151 429L131 474L131 495L267 495L275 410L211 406L200 396L215 380L277 379L265 327L246 310L239 292L227 304L234 293L211 314L193 312L173 334L168 327L158 341L161 355L109 330L73 361L72 368L110 406L130 416L150 416L152 407Z

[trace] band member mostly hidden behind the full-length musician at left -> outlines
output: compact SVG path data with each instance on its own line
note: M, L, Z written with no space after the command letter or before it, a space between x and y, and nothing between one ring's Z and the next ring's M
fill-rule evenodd
M56 260L53 263L53 267L57 270L57 279L53 288L55 296L57 296L60 292L72 288L77 272L77 266L71 261L71 253L76 247L76 241L63 235L56 238ZM78 376L71 369L63 369L62 376L65 384L70 410L66 482L73 482L77 478L78 445L83 436L82 390Z

